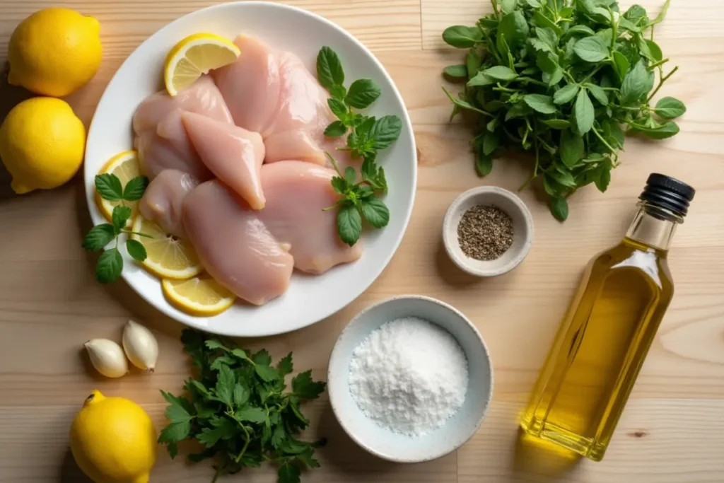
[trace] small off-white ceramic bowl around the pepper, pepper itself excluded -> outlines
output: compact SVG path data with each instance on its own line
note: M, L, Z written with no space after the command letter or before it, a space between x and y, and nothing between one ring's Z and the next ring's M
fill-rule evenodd
M463 214L476 205L497 206L513 219L513 245L499 259L471 259L460 248L458 224ZM521 198L510 191L497 186L480 186L467 190L450 204L442 222L442 241L450 259L460 269L476 277L495 277L510 272L528 256L533 243L533 217Z

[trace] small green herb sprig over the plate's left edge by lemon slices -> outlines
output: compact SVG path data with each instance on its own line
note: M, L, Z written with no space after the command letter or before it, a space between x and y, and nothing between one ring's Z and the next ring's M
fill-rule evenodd
M127 230L126 225L131 217L132 211L129 206L125 206L125 201L138 201L143 198L148 186L148 178L138 176L129 180L125 187L121 185L121 181L116 175L105 173L96 176L96 192L104 200L119 201L114 206L111 216L111 223L97 224L91 228L88 235L83 238L83 248L88 251L99 251L115 240L116 244L113 248L104 251L98 257L96 264L96 279L101 283L109 283L117 280L123 271L123 257L118 251L118 237L121 233L135 233ZM151 238L145 233L135 233L142 237ZM126 240L126 250L128 254L138 261L146 260L146 248L143 243L138 240Z

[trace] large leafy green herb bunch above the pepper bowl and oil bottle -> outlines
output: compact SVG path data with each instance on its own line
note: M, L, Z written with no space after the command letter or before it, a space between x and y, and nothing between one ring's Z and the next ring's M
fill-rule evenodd
M551 212L563 221L576 189L593 182L606 190L624 132L678 133L671 119L686 112L683 103L665 97L650 104L678 69L664 74L669 59L653 40L669 2L650 19L640 5L620 14L614 0L491 0L493 12L474 27L447 28L445 42L469 49L465 64L445 67L465 89L459 98L445 93L452 117L466 110L477 119L478 174L487 175L505 149L531 151L523 187L541 177Z

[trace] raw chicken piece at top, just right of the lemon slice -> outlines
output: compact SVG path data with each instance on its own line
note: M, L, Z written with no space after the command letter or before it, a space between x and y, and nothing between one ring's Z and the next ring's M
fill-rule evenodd
M239 35L236 62L211 72L237 126L264 133L279 104L277 54L258 38Z

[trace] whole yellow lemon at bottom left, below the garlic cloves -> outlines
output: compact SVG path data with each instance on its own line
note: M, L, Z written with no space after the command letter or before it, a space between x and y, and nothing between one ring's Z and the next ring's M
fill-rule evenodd
M132 400L94 390L70 427L75 462L96 483L148 483L156 463L156 429Z

